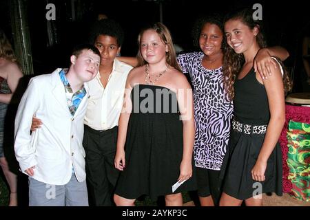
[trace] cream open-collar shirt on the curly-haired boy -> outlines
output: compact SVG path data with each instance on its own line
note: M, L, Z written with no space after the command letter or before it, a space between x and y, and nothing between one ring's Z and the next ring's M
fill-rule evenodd
M125 83L131 69L132 66L114 59L106 87L100 81L100 74L88 83L90 98L84 124L95 130L112 129L118 125Z

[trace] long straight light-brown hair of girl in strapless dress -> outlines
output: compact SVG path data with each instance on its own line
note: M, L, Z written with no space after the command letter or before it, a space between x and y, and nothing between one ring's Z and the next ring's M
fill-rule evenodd
M137 54L138 58L138 66L145 65L147 62L143 59L143 56L141 54L141 36L143 33L147 30L155 30L158 36L161 38L163 43L167 45L168 52L166 52L166 61L168 65L171 67L174 67L175 69L178 69L178 71L182 72L180 69L180 66L178 65L178 62L176 61L176 50L174 50L174 43L172 42L172 36L168 30L168 28L163 23L154 23L154 25L151 25L145 29L143 29L140 34L138 35L138 45L139 50Z

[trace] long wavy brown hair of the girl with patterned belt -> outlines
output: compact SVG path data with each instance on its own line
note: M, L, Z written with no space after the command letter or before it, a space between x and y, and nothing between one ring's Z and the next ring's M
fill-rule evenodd
M256 35L256 42L260 48L267 47L264 34L262 33L262 23L259 20L253 19L253 10L250 9L242 9L236 12L231 12L227 14L224 19L224 23L229 20L240 20L242 23L247 25L251 30L254 28L258 28L258 34ZM278 62L281 66L283 66L282 61L278 59ZM227 47L225 50L224 58L223 58L223 74L224 74L224 87L227 91L227 98L229 100L234 99L234 83L236 77L240 70L242 69L242 65L245 63L245 58L243 54L236 54L231 47ZM283 83L285 86L285 93L291 90L291 80L289 80L289 76L285 68L283 68Z

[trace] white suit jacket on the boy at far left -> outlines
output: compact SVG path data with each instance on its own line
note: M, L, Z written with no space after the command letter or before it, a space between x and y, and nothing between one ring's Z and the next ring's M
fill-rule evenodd
M45 184L64 185L72 176L72 165L78 181L85 180L85 151L82 146L83 120L87 94L72 117L59 77L52 74L34 77L23 94L15 119L14 151L21 171L35 166L34 179ZM32 115L43 122L32 132Z

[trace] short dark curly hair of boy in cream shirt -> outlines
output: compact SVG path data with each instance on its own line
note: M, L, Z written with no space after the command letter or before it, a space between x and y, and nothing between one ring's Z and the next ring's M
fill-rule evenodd
M112 19L96 21L91 29L90 43L94 44L94 41L99 35L113 36L117 40L118 47L123 45L124 31L117 21Z

